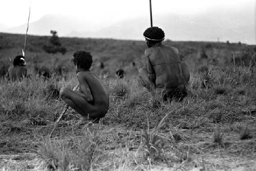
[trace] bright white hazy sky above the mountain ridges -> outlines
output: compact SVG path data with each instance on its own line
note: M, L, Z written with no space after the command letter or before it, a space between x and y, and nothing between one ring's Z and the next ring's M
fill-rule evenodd
M239 9L255 0L152 0L154 14L195 14L222 8ZM30 22L45 14L65 14L86 18L95 23L111 24L136 16L149 17L149 0L0 0L0 24L6 27L27 23L29 6Z

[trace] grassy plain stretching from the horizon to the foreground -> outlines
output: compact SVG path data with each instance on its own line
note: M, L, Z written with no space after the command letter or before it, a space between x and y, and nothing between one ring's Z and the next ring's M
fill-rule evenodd
M5 41L0 50L3 61L20 52L19 45L20 49L23 46L18 40L22 41L23 35L0 36ZM181 102L160 100L158 108L152 108L150 93L142 87L136 72L130 72L136 68L128 65L132 61L136 61L136 67L143 65L143 41L60 38L68 50L62 56L43 52L43 40L48 41L48 37L29 36L28 67L35 60L38 65L54 67L56 59L69 67L73 51L87 48L95 63L106 63L104 72L100 73L97 66L93 71L109 92L110 109L99 123L83 126L75 125L80 115L69 109L49 139L65 105L56 90L77 84L73 68L65 73L65 79L33 75L11 82L2 77L0 169L256 169L256 76L245 65L230 66L228 55L242 54L242 61L249 53L248 46L165 41L178 47L188 61L188 96ZM206 45L208 58L202 58L200 48ZM126 67L129 74L117 79L113 76L115 65ZM197 72L201 66L207 66L208 71Z

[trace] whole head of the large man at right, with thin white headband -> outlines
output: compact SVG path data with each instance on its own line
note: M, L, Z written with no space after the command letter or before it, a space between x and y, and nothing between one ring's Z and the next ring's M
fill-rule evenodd
M151 48L164 40L164 32L159 27L147 28L144 31L143 36L145 37L146 45L148 48Z

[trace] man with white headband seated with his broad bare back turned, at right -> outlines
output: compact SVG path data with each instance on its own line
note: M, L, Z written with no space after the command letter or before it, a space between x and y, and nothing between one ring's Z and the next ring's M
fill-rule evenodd
M147 28L143 33L148 49L145 50L147 67L139 70L143 86L168 98L182 100L186 96L189 71L186 62L181 62L179 51L162 44L164 32L158 27Z

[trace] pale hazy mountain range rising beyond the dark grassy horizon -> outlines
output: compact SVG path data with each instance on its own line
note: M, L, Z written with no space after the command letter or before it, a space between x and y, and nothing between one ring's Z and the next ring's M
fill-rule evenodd
M217 41L219 38L220 41L256 44L254 11L239 11L207 11L200 15L153 15L153 25L161 27L166 39L171 40ZM143 31L148 26L150 20L147 17L100 26L100 23L88 22L86 18L81 21L72 16L48 14L30 23L29 34L50 35L50 30L56 30L59 36L141 40ZM8 29L0 25L0 31L9 33L25 33L26 28L26 24Z

